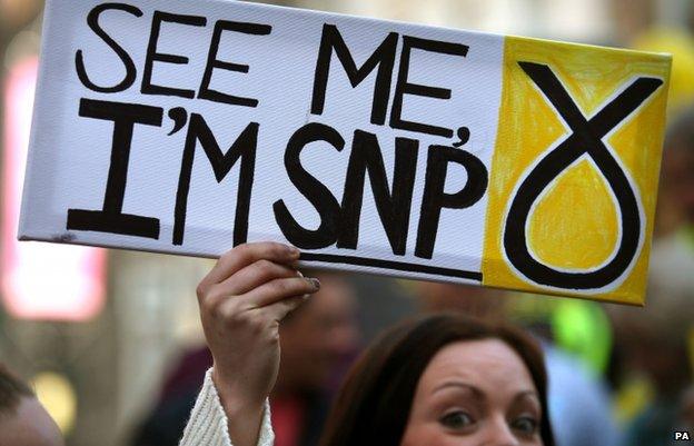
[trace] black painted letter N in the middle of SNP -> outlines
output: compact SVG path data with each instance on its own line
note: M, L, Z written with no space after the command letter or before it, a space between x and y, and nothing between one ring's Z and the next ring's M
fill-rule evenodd
M418 148L419 141L415 139L396 138L393 192L390 192L376 135L355 131L343 194L338 248L357 249L364 184L368 171L376 209L390 242L390 249L395 255L405 255Z

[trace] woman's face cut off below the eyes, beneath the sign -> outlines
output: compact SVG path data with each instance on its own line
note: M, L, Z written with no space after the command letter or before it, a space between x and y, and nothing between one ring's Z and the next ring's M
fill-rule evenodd
M424 370L400 446L542 445L543 416L531 374L510 347L459 341Z

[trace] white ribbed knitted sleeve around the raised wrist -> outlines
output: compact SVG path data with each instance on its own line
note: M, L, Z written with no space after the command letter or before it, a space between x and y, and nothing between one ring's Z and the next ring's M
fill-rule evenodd
M274 443L275 434L270 423L270 406L266 400L258 446L272 446ZM229 439L227 415L212 381L211 368L205 375L202 389L190 413L190 419L186 425L179 446L234 446Z

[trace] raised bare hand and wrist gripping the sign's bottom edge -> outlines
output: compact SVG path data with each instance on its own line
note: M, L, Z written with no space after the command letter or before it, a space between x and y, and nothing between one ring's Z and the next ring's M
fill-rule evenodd
M212 380L235 446L255 446L265 399L279 370L279 324L318 290L296 269L298 249L240 245L198 285L200 317L215 360Z

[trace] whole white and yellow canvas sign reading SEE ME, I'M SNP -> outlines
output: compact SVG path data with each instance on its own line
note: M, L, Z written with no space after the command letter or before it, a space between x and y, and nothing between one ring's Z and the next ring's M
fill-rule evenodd
M50 0L19 237L642 304L670 57Z

